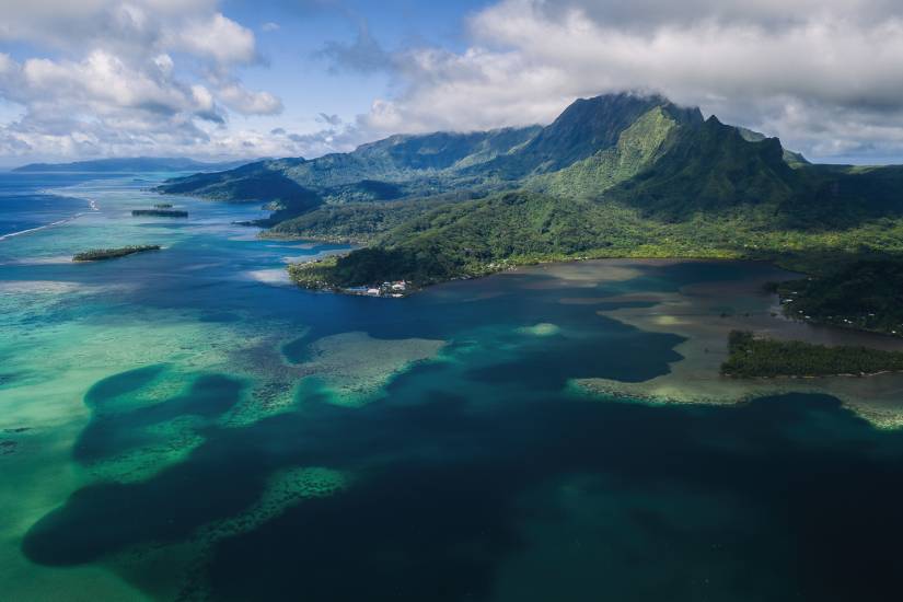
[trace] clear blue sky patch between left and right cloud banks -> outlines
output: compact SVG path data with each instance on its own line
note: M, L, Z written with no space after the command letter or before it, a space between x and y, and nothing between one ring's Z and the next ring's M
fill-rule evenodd
M332 5L331 5L332 4ZM367 113L374 97L392 91L389 72L336 69L327 57L319 56L329 43L354 44L362 24L386 51L405 46L441 45L466 48L463 20L485 2L304 2L223 4L223 13L259 32L258 48L265 68L244 70L252 86L278 90L290 112L267 119L273 127L315 130L320 113L354 119ZM271 30L273 24L278 30Z

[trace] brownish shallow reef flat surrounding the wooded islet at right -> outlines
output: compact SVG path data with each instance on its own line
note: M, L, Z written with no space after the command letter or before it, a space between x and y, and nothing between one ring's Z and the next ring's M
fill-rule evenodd
M680 261L678 261L680 262ZM629 267L630 262L620 262ZM668 264L672 262L667 262ZM764 280L763 280L764 281ZM673 334L684 340L674 350L681 358L667 374L642 382L612 379L575 379L570 386L590 398L628 400L646 404L737 405L788 393L834 396L879 428L903 426L903 373L882 372L869 377L831 375L811 378L738 379L720 373L728 357L731 329L752 329L774 338L813 344L867 345L903 350L898 338L849 329L832 329L773 315L773 294L755 280L742 283L698 283L675 292L628 293L592 300L562 299L563 303L635 301L641 308L600 309L599 315L646 332ZM648 306L652 303L652 306ZM721 315L721 308L737 311Z

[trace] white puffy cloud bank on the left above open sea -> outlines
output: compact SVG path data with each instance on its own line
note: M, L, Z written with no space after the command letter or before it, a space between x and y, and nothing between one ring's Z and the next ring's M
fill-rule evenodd
M254 34L215 0L0 0L0 42L50 50L0 54L0 99L22 107L0 125L0 153L242 154L230 112L282 111L235 74L259 61Z

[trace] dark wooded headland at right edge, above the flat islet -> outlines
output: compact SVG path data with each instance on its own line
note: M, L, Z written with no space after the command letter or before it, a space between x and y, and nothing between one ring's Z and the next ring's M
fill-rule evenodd
M903 336L903 259L854 261L778 293L791 317Z

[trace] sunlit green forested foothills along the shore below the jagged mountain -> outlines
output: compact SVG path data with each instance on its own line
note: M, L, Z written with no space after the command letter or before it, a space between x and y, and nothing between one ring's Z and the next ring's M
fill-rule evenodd
M404 221L370 241L383 251L372 274L371 254L355 252L337 282L370 285L383 279L420 285L479 276L513 265L598 257L709 257L767 259L811 274L848 263L866 250L903 254L903 219L881 219L834 231L769 229L757 207L685 221L647 217L613 200L558 198L511 192L447 204ZM349 236L354 239L354 236ZM360 262L359 268L350 265ZM360 278L348 281L349 275ZM328 278L328 275L322 275ZM877 312L876 312L877 313Z

